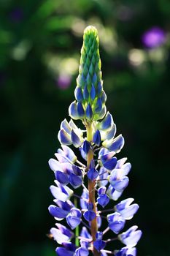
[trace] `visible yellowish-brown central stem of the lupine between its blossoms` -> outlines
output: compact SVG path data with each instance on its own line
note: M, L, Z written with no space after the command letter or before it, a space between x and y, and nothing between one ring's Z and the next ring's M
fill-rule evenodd
M92 141L93 137L93 129L92 129L92 123L87 125L87 140L89 142ZM93 151L90 149L88 152L87 156L87 167L90 166L90 162L93 160ZM89 192L89 203L93 203L93 211L96 213L96 200L95 200L95 181L90 181L88 179L88 192ZM90 231L91 231L91 236L93 238L93 241L96 240L96 233L97 233L97 217L95 217L90 224ZM100 252L98 252L94 247L93 247L93 255L94 256L99 256L101 255Z

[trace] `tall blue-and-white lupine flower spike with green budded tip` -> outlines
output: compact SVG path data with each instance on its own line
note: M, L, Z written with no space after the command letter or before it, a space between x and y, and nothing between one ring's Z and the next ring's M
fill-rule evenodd
M88 256L90 252L95 256L135 256L134 246L142 231L136 230L137 226L125 232L123 229L139 206L132 204L133 198L113 203L128 186L131 164L126 158L117 158L124 138L115 137L116 126L105 105L98 32L93 26L85 29L74 96L69 106L71 119L64 119L58 132L61 148L55 153L56 159L49 160L55 176L55 185L50 186L55 199L49 211L57 221L50 237L61 245L56 249L59 256ZM77 127L73 119L81 120L85 129ZM79 148L81 157L71 147ZM108 222L107 229L101 219ZM63 220L65 225L61 224ZM114 238L106 240L109 230ZM109 242L116 239L125 246L109 251Z

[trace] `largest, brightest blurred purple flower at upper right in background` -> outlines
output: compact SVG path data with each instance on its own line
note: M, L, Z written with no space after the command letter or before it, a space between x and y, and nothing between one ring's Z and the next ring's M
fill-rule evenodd
M156 48L166 41L166 33L159 27L152 27L142 35L142 42L147 48Z

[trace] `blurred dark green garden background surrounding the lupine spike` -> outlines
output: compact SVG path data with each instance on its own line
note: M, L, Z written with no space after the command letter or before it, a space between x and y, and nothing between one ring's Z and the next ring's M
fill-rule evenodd
M58 129L74 99L82 33L93 25L107 109L133 168L123 194L139 212L139 256L170 255L169 0L0 1L0 255L55 256L53 172Z

